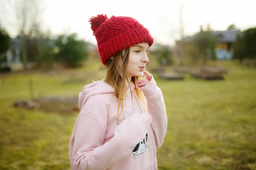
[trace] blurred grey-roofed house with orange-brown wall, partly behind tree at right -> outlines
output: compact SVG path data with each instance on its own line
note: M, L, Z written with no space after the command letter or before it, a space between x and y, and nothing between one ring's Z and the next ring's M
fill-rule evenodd
M198 33L197 33L198 34ZM186 51L191 47L195 36L188 36L183 38L183 51ZM237 35L241 34L239 30L227 30L227 31L212 31L212 34L217 38L217 43L215 47L215 54L217 59L231 59L232 58L232 46L236 42ZM181 40L176 41L175 43L175 52L180 54L180 42Z

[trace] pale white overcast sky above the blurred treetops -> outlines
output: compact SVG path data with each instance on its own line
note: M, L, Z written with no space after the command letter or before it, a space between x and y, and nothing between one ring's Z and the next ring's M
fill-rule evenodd
M6 0L0 0L3 5ZM97 14L128 16L142 23L154 42L175 45L180 39L180 7L183 6L184 35L206 28L224 31L230 24L241 30L256 27L255 0L41 0L40 20L52 34L76 32L79 38L96 44L88 20ZM15 14L11 7L0 10L0 23L15 36Z

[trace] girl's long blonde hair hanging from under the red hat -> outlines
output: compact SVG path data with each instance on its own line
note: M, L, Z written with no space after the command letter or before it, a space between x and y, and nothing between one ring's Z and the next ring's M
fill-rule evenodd
M117 98L117 118L119 119L122 110L124 108L125 105L125 100L126 100L126 85L125 85L125 81L128 81L128 77L126 75L126 71L127 71L127 65L128 65L128 59L129 59L129 54L130 54L130 48L126 48L124 50L124 54L123 51L119 51L118 53L116 53L113 58L108 59L107 63L106 63L106 68L107 68L107 74L106 77L104 79L104 82L108 83L109 85L111 85L114 88L114 96L116 96ZM122 62L120 62L122 61ZM137 79L141 79L142 77L131 77L131 81L134 83L135 85L135 81ZM129 87L130 87L130 91L131 91L131 86L130 83ZM145 104L144 104L144 100L143 100L143 94L142 92L136 87L134 87L136 94L138 96L138 99L140 101L140 103L143 105L143 108L145 108ZM132 95L132 93L131 93ZM132 96L131 96L132 99ZM132 105L133 105L133 100L132 100ZM120 110L121 108L121 110Z

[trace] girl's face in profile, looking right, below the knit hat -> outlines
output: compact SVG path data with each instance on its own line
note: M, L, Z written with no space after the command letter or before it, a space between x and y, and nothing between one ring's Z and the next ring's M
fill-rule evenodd
M127 65L127 77L143 76L146 63L149 61L147 57L149 45L148 43L140 43L130 47L130 55Z

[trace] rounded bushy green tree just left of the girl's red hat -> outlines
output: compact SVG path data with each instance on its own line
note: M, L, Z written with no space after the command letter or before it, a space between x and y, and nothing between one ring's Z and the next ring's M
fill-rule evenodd
M59 48L56 54L57 61L63 62L68 67L79 67L81 61L88 57L86 45L83 40L77 39L77 34L60 35L56 41Z

